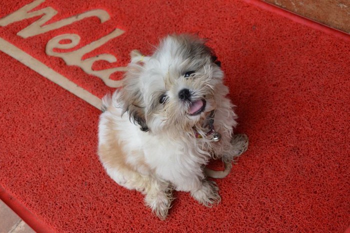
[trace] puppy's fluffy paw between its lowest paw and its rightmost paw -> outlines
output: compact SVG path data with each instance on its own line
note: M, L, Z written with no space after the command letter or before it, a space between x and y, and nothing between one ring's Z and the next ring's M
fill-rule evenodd
M206 207L212 207L213 205L219 204L221 201L221 197L218 194L218 188L213 181L204 180L202 188L191 192L191 196Z

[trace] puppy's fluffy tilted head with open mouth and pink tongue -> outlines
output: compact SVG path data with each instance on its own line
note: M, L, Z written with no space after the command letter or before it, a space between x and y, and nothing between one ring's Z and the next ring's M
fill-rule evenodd
M151 56L131 53L124 110L143 131L192 131L215 109L223 73L213 51L192 35L164 38Z

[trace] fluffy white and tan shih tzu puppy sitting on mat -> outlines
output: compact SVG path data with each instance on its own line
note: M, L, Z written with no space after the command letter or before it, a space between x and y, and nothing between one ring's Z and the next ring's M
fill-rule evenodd
M193 35L170 35L151 56L131 52L120 90L102 100L98 155L120 186L145 195L164 220L172 190L189 192L204 206L220 202L216 183L247 149L233 136L236 114L212 49ZM205 168L221 159L225 171Z

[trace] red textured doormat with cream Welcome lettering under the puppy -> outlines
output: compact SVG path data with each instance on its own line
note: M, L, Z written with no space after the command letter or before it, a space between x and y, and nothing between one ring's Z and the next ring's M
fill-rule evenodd
M173 32L209 39L237 105L236 131L250 146L216 180L218 206L176 193L161 222L139 193L102 169L97 108L119 85L129 52L149 53ZM19 0L1 3L0 37L0 198L34 230L343 232L349 225L348 35L255 0Z

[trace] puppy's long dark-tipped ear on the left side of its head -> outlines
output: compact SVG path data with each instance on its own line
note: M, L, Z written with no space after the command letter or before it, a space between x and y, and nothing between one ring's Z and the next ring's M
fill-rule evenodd
M129 115L130 121L138 124L141 131L147 132L149 129L144 114L145 104L139 87L139 74L144 62L142 59L144 56L140 52L131 51L131 62L123 78L120 98L123 102L123 110Z

